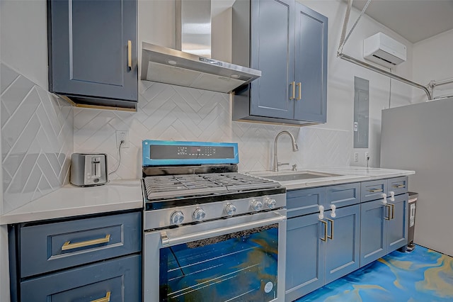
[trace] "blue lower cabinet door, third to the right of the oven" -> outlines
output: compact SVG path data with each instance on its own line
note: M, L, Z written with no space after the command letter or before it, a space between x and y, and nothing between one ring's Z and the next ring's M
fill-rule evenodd
M360 208L360 267L386 255L387 224L382 200L362 203Z

